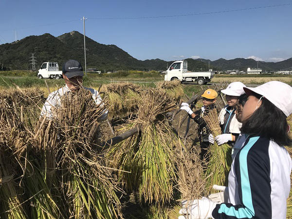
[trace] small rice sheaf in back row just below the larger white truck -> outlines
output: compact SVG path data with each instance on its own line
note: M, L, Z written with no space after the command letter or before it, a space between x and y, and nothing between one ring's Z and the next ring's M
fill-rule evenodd
M184 95L183 86L179 80L161 81L156 83L158 89L164 89L171 98L179 102Z

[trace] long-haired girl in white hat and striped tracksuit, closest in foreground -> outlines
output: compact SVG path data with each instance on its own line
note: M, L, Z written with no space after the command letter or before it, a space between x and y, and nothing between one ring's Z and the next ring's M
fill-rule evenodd
M241 116L245 141L240 141L232 162L228 200L218 203L203 197L181 209L181 214L192 219L286 219L292 160L284 145L292 146L287 124L292 87L271 81L244 91L248 95Z

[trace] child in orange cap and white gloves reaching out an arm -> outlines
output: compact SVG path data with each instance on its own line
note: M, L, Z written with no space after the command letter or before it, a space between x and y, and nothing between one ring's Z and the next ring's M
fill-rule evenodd
M188 103L182 103L181 110L185 110L192 119L196 123L198 123L198 138L200 140L200 146L201 146L201 153L200 153L200 159L203 160L208 159L205 157L208 148L210 146L209 143L209 134L210 134L210 129L207 127L207 124L203 120L203 116L207 115L210 110L216 109L215 102L216 98L218 96L218 93L212 89L208 89L204 91L204 93L201 95L203 97L203 106L200 110L197 110L193 112L189 108Z

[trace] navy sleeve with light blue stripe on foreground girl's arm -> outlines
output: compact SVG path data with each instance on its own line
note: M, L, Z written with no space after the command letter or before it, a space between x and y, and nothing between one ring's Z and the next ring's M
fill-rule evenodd
M235 158L240 204L217 204L215 219L271 219L272 201L268 139L253 137Z

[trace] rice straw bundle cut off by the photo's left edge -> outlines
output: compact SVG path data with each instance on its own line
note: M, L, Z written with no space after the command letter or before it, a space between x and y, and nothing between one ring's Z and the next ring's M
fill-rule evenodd
M18 194L23 189L18 177L23 177L27 149L25 129L19 122L13 106L0 100L0 217L25 218Z

